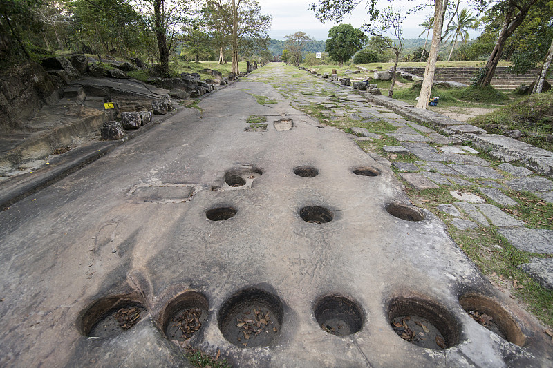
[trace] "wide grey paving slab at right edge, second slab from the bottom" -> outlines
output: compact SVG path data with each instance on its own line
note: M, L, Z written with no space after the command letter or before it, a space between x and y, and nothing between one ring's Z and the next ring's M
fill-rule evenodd
M516 249L532 253L553 254L553 230L503 228L498 231Z

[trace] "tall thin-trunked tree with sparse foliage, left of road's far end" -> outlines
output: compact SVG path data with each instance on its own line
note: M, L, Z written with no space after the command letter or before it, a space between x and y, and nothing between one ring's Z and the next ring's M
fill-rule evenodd
M268 41L267 29L272 17L261 13L257 0L206 0L219 26L230 36L232 46L232 72L238 74L238 52L245 41Z

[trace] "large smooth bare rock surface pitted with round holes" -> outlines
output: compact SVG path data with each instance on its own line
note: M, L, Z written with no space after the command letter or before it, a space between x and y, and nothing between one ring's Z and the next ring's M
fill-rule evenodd
M209 306L205 324L189 345L220 352L234 367L434 367L446 361L451 367L550 365L552 354L544 349L549 345L535 318L482 278L438 217L423 210L424 220L407 221L388 212L391 203L409 204L409 197L386 158L367 154L350 135L321 129L290 106L290 101L308 100L335 104L344 117L380 116L405 126L400 115L344 88L271 64L201 101L201 117L184 109L148 135L1 212L0 349L8 354L0 354L0 365L88 367L109 361L111 366L186 367L180 347L162 333L160 316L172 298L191 290L205 296ZM277 104L258 105L242 89ZM249 115L294 115L294 128L244 132ZM428 145L404 144L408 149L419 144L438 158L432 161L444 159ZM292 172L306 165L318 168L319 175ZM380 175L352 172L362 166ZM223 185L227 172L244 167L263 174L247 188ZM417 188L438 188L420 173L400 175ZM165 196L182 199L174 187L167 195L156 190L165 184L194 190L186 201L164 201ZM131 191L137 187L149 188L147 195L160 200L144 202ZM300 209L314 205L329 209L332 221L303 221ZM486 223L480 211L493 212L454 205ZM208 220L206 211L218 206L231 206L236 215ZM457 223L473 226L469 220ZM274 344L238 347L218 327L223 303L248 287L273 293L283 303ZM497 300L533 338L519 347L482 329L460 307L464 290ZM332 336L313 318L315 301L334 293L362 309L362 328L354 335ZM106 296L139 298L147 309L144 318L116 338L83 336L79 321ZM443 306L459 324L459 340L445 351L422 350L402 340L386 313L388 302L399 296Z

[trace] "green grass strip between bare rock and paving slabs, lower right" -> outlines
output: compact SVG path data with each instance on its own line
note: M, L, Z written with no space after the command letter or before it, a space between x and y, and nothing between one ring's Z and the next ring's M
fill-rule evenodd
M407 194L417 206L438 215L447 224L449 234L456 244L476 264L480 271L487 275L494 286L501 291L509 291L513 298L521 300L537 318L552 327L553 291L545 289L530 278L527 273L518 269L521 264L529 262L532 257L545 258L546 256L519 251L498 234L495 226L488 228L479 226L476 229L458 230L452 223L454 217L447 213L438 212L437 209L438 204L457 202L449 194L449 191L452 190L467 192L467 188L463 186L440 186L437 189L426 189L424 191L409 190ZM526 193L524 195L526 198ZM529 193L527 199L537 200L536 197L532 198ZM522 206L516 208L521 213L526 211ZM528 211L531 210L528 209ZM462 215L460 218L471 220L468 215ZM525 220L524 217L521 217L521 219ZM541 228L543 229L543 226Z

